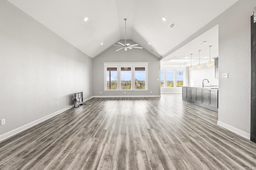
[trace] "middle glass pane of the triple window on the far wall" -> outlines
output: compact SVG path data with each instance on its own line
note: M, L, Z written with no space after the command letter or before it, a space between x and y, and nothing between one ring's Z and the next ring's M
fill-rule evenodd
M132 89L131 67L121 67L121 89Z

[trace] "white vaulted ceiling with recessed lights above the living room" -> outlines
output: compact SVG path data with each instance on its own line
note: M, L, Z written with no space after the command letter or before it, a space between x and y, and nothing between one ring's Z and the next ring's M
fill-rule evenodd
M238 0L8 1L94 58L125 38L124 18L127 18L126 38L162 57ZM85 17L88 17L86 22ZM166 21L162 21L162 17ZM171 22L176 24L174 29L168 27ZM181 58L191 53L183 50L167 56L163 63L171 57Z

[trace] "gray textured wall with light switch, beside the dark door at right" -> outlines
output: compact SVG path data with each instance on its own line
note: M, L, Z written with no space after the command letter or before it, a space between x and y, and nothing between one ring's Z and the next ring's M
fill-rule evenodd
M256 0L240 0L219 18L218 120L250 133L250 16Z

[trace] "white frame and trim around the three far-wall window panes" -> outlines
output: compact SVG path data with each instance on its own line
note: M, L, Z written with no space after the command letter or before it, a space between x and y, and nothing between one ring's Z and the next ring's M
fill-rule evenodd
M148 62L103 62L104 91L148 91ZM107 89L107 67L117 67L117 89ZM121 67L131 67L131 89L121 89ZM135 67L145 67L145 89L135 89Z

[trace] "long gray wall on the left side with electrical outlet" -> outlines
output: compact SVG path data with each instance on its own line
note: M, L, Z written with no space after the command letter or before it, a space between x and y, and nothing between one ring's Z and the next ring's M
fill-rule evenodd
M0 57L0 135L92 96L92 59L6 0Z

